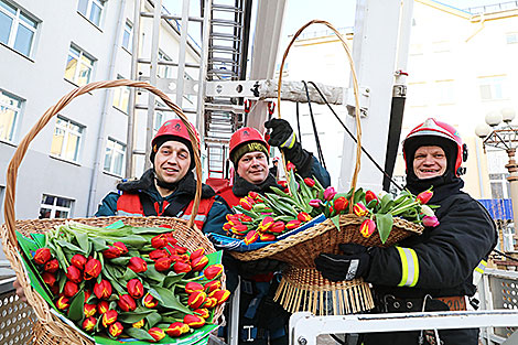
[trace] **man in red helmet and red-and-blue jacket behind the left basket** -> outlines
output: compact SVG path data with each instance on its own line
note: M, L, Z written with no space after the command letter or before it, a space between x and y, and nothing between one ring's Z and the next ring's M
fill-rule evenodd
M192 125L191 125L192 127ZM198 133L192 127L196 138ZM193 168L195 148L185 125L169 120L158 130L151 141L150 160L153 168L136 181L120 183L120 193L108 194L99 205L96 216L170 216L191 217L196 180ZM204 233L223 233L228 205L208 185L202 187L202 201L195 218L196 226Z

